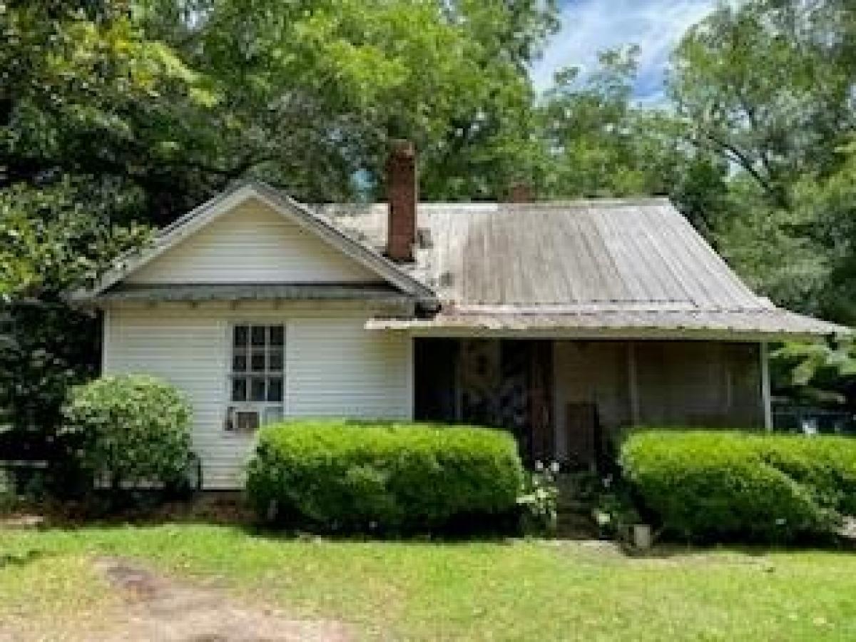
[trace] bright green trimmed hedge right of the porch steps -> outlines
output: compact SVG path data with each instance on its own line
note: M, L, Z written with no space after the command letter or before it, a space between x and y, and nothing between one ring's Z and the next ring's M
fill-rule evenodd
M745 432L642 431L621 467L666 532L788 542L856 513L856 440Z

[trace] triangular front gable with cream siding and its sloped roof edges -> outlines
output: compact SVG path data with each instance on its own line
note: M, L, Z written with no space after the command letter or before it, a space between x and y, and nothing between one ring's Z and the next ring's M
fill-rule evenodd
M74 298L97 297L119 282L387 282L433 300L429 288L380 253L259 182L200 205Z

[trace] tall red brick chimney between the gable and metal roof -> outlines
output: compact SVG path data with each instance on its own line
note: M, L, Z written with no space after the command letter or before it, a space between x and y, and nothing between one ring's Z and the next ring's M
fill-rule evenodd
M394 261L412 261L416 243L416 149L409 140L394 140L386 162L389 226L386 254Z

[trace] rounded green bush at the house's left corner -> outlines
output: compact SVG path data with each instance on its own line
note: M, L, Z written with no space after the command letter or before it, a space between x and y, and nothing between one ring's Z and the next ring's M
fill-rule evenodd
M81 465L114 490L173 484L185 473L191 407L169 383L101 377L71 389L63 414L63 432L80 443Z

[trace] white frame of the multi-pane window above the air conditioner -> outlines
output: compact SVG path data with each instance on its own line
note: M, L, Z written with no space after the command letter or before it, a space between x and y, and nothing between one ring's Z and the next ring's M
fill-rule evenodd
M235 329L244 326L247 328L247 343L245 344L244 358L246 369L243 371L235 370L235 356L241 354L235 346ZM265 357L265 370L253 371L253 328L265 329L265 343L263 346L263 354ZM282 328L282 366L277 369L270 368L270 354L275 352L273 344L270 342L270 328ZM255 428L266 424L276 423L285 416L285 372L286 372L286 342L288 341L288 329L286 324L281 321L263 321L263 320L241 320L234 321L228 324L228 341L227 352L228 360L226 363L226 416L223 423L223 428L229 434L241 435L252 434ZM262 401L253 401L253 378L263 378L265 381L265 399ZM278 377L281 385L280 401L269 401L269 386L272 378ZM247 382L244 401L235 401L233 398L235 392L235 379L243 378ZM257 413L258 421L255 426L241 429L239 427L239 413Z

